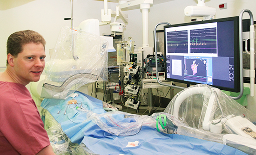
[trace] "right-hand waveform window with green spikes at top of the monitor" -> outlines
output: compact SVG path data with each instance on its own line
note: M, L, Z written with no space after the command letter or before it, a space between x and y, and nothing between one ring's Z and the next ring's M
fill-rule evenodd
M190 30L190 53L217 53L216 27Z

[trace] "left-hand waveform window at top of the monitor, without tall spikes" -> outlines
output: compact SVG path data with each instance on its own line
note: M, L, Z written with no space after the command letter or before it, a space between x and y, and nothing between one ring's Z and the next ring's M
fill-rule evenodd
M188 53L188 31L167 32L168 53Z

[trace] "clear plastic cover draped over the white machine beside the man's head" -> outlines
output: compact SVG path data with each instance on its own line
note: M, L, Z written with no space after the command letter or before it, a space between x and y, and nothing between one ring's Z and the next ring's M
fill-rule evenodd
M79 87L108 79L108 41L91 33L62 27L46 62L41 97L66 99Z

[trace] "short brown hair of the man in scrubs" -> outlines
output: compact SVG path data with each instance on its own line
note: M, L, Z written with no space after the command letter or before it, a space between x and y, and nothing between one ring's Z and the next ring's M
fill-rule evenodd
M14 32L7 39L7 55L10 53L17 57L27 43L41 43L45 48L46 41L38 32L32 30Z

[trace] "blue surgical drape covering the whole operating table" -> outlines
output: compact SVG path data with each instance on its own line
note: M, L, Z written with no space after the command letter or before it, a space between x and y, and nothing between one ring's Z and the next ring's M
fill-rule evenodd
M115 136L112 131L103 130L95 121L88 119L89 115L106 114L102 101L84 93L75 92L79 96L66 100L44 99L41 106L47 109L54 119L61 124L62 130L73 143L84 143L88 149L99 155L246 155L240 150L197 139L189 136L164 134L149 126L139 127L130 136ZM77 100L77 105L86 112L68 105L71 99ZM66 112L66 113L65 113ZM65 113L65 114L64 114ZM119 123L135 123L134 118L124 118L121 114L113 114L113 120ZM112 119L111 119L112 120ZM101 117L100 121L108 127L115 124ZM109 128L109 129L110 129ZM107 128L108 129L108 128ZM121 129L120 129L121 130ZM128 142L139 141L136 147L126 147Z

